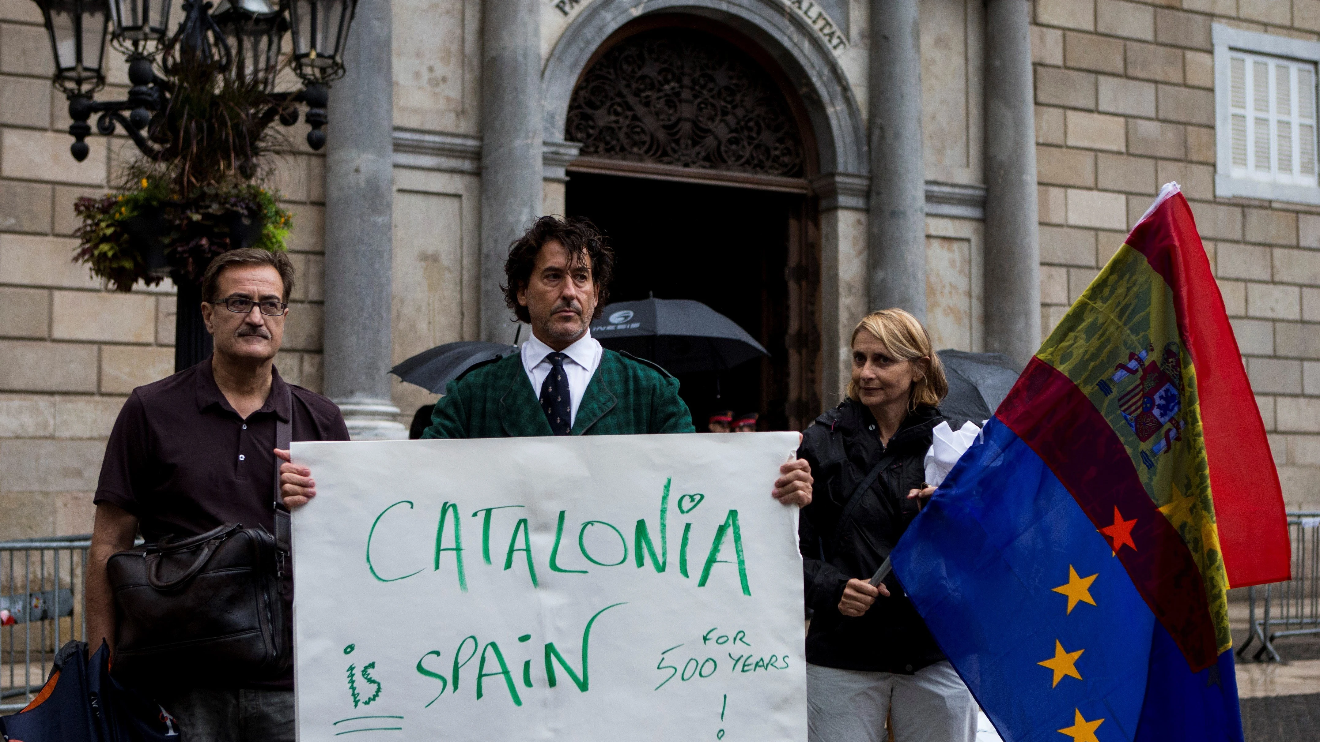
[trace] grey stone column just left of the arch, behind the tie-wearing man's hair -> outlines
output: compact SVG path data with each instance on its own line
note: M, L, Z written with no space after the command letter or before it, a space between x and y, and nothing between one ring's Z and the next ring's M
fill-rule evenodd
M482 29L482 340L512 343L500 283L508 245L541 214L541 7L484 0Z

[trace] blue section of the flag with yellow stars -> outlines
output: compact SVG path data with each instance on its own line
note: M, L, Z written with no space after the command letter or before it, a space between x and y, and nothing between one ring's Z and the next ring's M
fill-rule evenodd
M892 559L1005 742L1242 741L1232 650L1192 672L1104 535L998 419Z

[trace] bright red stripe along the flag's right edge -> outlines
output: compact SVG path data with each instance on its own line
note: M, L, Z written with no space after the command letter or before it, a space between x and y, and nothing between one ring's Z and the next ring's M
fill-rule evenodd
M1224 298L1183 194L1173 194L1127 236L1173 289L1177 328L1196 368L1197 397L1220 550L1229 585L1290 579L1287 515Z

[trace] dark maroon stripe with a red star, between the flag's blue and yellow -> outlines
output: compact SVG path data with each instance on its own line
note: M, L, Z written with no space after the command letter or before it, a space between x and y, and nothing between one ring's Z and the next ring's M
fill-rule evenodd
M1096 530L1137 519L1135 548L1118 546L1118 559L1151 613L1177 642L1193 672L1218 658L1201 572L1181 536L1155 509L1127 448L1077 385L1040 358L1032 358L995 415L1059 477Z

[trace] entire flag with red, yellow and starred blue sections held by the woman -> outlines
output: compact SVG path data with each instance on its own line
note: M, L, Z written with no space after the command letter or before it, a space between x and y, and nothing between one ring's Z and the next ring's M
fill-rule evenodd
M1006 741L1241 742L1225 590L1287 580L1288 535L1176 183L892 560Z

